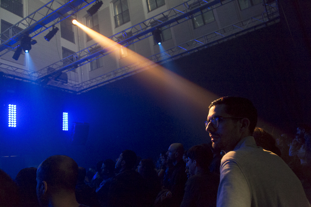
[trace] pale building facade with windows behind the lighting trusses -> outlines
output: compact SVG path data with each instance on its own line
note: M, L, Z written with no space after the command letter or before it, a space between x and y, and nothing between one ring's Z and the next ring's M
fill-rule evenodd
M48 3L43 0L0 1L2 34L5 33L6 29ZM150 57L159 52L163 52L163 50L165 51L180 46L185 42L195 40L204 35L213 32L218 33L217 31L223 28L244 20L247 21L251 17L262 16L264 18L264 13L266 12L266 7L262 0L227 0L217 2L218 4L213 7L207 7L200 9L196 13L190 13L181 23L170 23L164 27L158 28L161 30L162 50L160 50L160 46L154 41L153 35L150 35L139 41L137 39L132 41L135 43L131 43L127 46L130 50L121 48L108 55L99 55L99 58L96 57L93 58L95 60L92 59L93 61L89 60L85 62L87 64L84 63L83 65L81 64L81 66L77 65L78 67L66 71L66 78L68 79L66 81L60 81L57 84L47 80L45 83L51 85L56 84L63 88L66 88L68 83L71 84L70 86L81 85L85 81L93 80L94 78L128 65L128 60L131 59L131 56L135 53L143 57ZM65 4L66 2L63 3ZM92 5L94 3L92 3ZM106 37L112 37L116 34L118 36L119 34L120 39L122 39L124 31L146 20L148 20L151 25L150 27L152 27L153 24L156 25L157 22L168 21L169 17L165 12L171 8L183 8L187 6L188 10L191 11L194 8L200 8L204 3L206 2L200 0L103 0L103 5L93 16L90 16L87 12L91 5L84 7L71 16L70 12L63 14L61 19L64 18L64 20L55 24L55 27L58 27L59 31L49 42L44 39L44 36L47 35L48 31L51 29L33 37L37 43L32 46L28 58L26 57L27 54L25 56L25 53L22 52L19 59L14 60L12 56L16 49L7 53L5 53L4 50L0 52L0 63L21 68L26 71L39 71L42 68L46 68L86 48L89 48L87 50L90 54L92 51L96 51L98 49L96 42L80 28L73 25L71 22L72 19L77 19L78 22ZM177 7L178 5L182 6ZM58 7L57 5L55 8L52 6L51 9L57 9ZM161 14L163 14L162 17ZM176 22L178 21L176 20ZM14 28L14 31L18 33L26 28L27 27L23 27L22 25ZM151 32L149 33L151 34ZM130 33L126 34L128 37L131 37ZM30 34L30 36L32 37L33 35ZM1 39L2 42L5 40L4 35L1 36ZM66 61L68 63L75 62L76 58L73 55L67 58L67 60L63 60L62 64L67 64ZM51 70L55 69L51 68ZM72 89L72 87L69 89Z

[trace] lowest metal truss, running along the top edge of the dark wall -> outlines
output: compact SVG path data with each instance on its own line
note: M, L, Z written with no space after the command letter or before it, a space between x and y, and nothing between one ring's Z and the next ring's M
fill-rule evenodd
M166 51L150 56L148 57L148 59L156 62L157 64L163 64L165 62L176 60L180 57L187 56L193 52L198 52L204 48L211 47L218 43L230 40L234 37L241 36L247 32L251 32L260 29L262 27L265 27L267 25L279 22L279 16L267 22L263 22L262 20L263 19L259 19L258 17L252 17L250 19L237 22L231 26L224 27L218 31L211 32L202 37L190 40L179 46L173 47ZM257 22L257 24L255 24L255 22ZM153 64L155 65L154 62L151 65L149 65L148 68L153 67ZM133 63L118 68L117 70L103 74L102 76L77 84L76 86L73 86L73 88L76 88L74 90L78 91L78 94L82 92L87 92L99 86L103 86L112 81L125 78L127 76L136 74L146 69L138 67L138 65L139 65L138 63Z

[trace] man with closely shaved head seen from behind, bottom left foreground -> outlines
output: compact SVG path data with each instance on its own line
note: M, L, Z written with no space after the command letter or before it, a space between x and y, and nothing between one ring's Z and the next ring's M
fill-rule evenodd
M37 197L42 207L86 207L75 196L78 165L70 157L54 155L37 170Z

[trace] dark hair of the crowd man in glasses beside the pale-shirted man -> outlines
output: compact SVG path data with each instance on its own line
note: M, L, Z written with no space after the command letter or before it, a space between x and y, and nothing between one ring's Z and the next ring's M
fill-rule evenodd
M213 160L213 151L203 145L194 145L192 146L187 153L187 156L191 160L196 160L198 165L205 171L209 171L209 165Z

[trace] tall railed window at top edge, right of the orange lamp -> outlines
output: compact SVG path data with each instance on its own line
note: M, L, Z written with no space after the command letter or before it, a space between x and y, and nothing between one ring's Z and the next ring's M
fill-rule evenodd
M116 27L130 21L130 13L128 11L128 1L118 0L113 3L114 23Z

